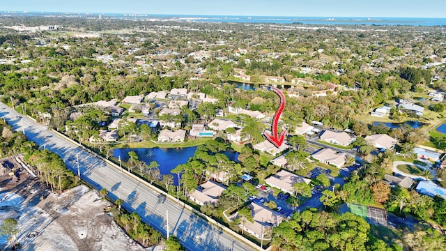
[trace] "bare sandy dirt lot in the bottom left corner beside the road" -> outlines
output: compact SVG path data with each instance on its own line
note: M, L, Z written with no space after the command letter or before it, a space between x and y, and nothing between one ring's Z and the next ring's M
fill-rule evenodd
M103 212L109 202L95 190L79 185L58 195L25 171L19 175L17 182L0 176L0 222L17 220L21 250L143 250ZM7 242L0 236L0 250Z

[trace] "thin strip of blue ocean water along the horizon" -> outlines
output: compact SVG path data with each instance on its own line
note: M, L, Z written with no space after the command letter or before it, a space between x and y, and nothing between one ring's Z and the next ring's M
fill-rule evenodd
M428 17L274 17L274 16L231 16L231 15L153 15L126 13L39 13L0 12L0 15L99 17L126 20L173 20L179 22L234 22L272 24L320 24L320 25L411 25L445 26L446 18Z

